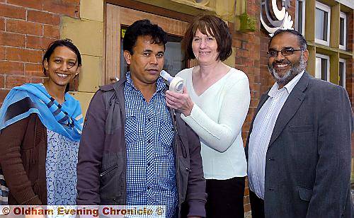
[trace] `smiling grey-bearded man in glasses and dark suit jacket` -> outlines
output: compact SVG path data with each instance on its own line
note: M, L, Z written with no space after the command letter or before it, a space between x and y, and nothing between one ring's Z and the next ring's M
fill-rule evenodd
M252 217L352 217L353 114L346 90L305 68L307 42L278 30L268 45L276 83L260 100L246 143Z

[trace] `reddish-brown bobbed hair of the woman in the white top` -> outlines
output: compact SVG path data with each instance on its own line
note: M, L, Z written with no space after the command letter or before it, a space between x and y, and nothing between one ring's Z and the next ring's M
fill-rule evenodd
M232 35L227 24L217 16L202 15L188 25L182 40L182 48L185 51L185 59L195 59L192 50L192 42L197 30L207 35L209 33L217 40L217 59L224 61L232 54Z

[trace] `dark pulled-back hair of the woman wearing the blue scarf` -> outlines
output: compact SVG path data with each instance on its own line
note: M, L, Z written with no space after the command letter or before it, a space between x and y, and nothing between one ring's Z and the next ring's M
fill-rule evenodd
M48 45L47 51L45 52L43 59L42 59L42 67L43 67L43 73L45 75L47 75L45 67L44 67L44 62L45 60L47 60L47 62L49 62L50 56L52 55L52 53L54 52L56 47L59 46L65 46L68 47L69 50L72 50L77 57L76 62L78 63L78 66L81 66L81 54L79 52L79 49L72 43L72 40L69 39L64 39L64 40L55 40L54 42L50 43L50 45Z

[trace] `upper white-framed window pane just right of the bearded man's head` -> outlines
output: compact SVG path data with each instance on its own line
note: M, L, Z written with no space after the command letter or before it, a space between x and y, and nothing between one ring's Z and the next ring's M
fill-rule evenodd
M331 8L325 4L316 2L315 42L329 46L329 19L331 18Z

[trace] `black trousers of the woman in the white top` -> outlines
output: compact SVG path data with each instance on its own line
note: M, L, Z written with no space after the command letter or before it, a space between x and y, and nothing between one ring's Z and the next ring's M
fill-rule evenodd
M244 217L244 177L207 179L207 218Z

